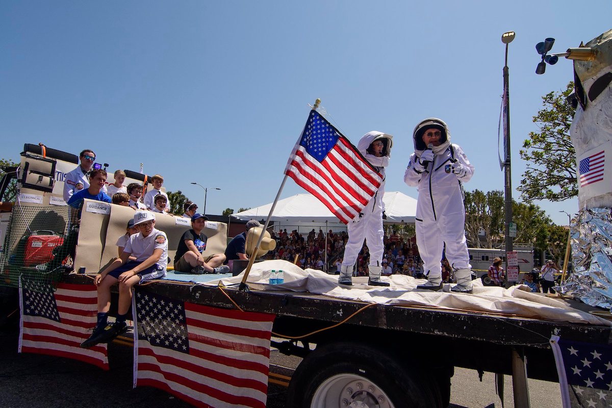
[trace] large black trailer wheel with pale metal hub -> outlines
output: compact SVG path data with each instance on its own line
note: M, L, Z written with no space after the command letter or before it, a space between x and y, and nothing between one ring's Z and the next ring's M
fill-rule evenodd
M427 373L412 373L397 357L365 344L335 343L318 347L300 363L286 406L436 408L442 401L438 382Z

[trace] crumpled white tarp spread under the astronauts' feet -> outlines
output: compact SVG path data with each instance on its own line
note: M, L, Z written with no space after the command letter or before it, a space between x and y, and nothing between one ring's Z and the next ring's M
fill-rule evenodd
M267 284L272 269L283 270L285 283ZM185 275L187 276L193 276L197 280L203 275ZM425 280L412 278L412 276L391 275L384 277L383 280L389 281L390 287L368 286L368 278L363 277L353 278L353 286L349 289L338 285L336 275L327 275L325 272L314 269L304 270L291 262L277 259L253 264L247 284L255 291L310 292L338 299L381 305L430 307L441 310L505 314L557 322L612 325L612 322L574 309L562 300L550 299L544 294L531 293L525 285L504 289L503 287L482 286L480 280L475 280L473 294L457 294L450 292L450 284L444 284L443 292L417 289L416 286L425 283ZM200 284L217 286L222 283L228 286L241 281L242 273Z

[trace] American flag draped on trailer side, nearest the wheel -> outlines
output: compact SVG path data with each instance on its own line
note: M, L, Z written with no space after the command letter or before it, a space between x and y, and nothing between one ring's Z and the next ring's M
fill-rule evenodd
M136 287L134 386L198 407L265 408L274 314L170 299Z

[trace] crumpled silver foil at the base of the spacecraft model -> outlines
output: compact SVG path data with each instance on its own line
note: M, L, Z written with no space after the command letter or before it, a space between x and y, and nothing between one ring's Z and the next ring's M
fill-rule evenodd
M612 213L609 208L582 210L570 225L573 272L561 286L591 306L612 309Z

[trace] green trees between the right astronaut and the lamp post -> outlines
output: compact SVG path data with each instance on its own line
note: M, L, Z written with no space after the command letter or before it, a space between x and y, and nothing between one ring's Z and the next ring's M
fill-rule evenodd
M497 247L504 238L504 194L500 190L465 193L465 230L469 246Z

